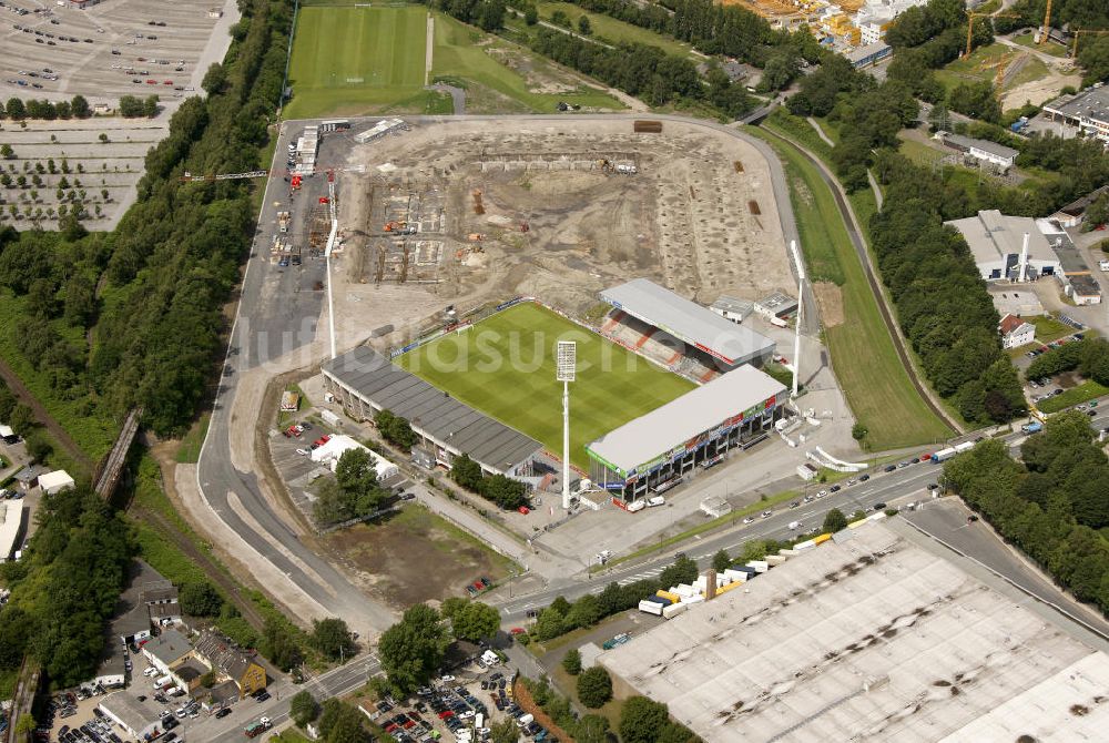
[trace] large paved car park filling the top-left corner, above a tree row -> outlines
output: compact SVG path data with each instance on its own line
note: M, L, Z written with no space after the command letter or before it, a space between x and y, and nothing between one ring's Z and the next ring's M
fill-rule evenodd
M114 105L125 94L183 98L223 58L226 29L237 18L234 2L211 0L104 0L83 10L69 0L0 1L4 99L58 101L80 93Z

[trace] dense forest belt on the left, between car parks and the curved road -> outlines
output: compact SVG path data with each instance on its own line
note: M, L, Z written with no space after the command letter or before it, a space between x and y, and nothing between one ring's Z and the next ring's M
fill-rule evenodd
M111 419L133 405L157 434L181 431L204 395L221 307L252 234L252 185L183 183L184 170L256 170L285 70L292 3L240 0L242 20L207 99L185 100L146 155L139 201L115 232L0 233L0 286L22 297L20 353L57 399ZM47 400L49 404L49 399Z

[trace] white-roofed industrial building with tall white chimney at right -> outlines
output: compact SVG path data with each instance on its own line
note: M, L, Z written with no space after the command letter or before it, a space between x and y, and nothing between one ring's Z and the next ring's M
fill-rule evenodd
M958 230L967 241L978 273L987 282L1028 282L1060 271L1059 256L1031 217L988 210L944 224Z

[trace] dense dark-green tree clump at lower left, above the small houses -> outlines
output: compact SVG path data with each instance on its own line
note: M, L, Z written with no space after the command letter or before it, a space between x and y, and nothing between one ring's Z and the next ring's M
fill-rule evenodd
M14 672L30 654L68 688L95 674L135 544L88 484L43 495L37 518L27 557L0 567L12 589L0 612L0 672Z

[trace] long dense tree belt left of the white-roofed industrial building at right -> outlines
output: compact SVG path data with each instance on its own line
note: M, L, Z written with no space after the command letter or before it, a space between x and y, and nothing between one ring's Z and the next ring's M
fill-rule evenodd
M886 197L871 220L874 252L933 388L971 423L1020 415L1025 398L1001 350L997 311L966 241L943 224L964 204L948 203L940 179L901 155L879 159L877 170Z

